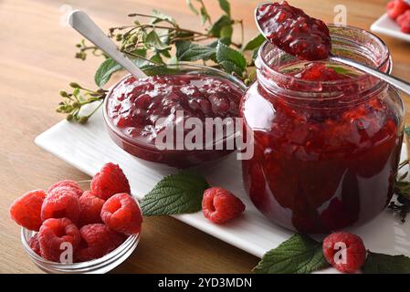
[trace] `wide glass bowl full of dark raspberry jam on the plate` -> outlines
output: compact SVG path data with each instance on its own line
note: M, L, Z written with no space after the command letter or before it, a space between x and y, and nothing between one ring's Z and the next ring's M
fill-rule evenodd
M232 125L245 91L240 80L214 68L168 65L163 75L122 78L104 102L104 120L111 139L142 162L187 168L236 150L227 141L240 129L218 132L206 120Z

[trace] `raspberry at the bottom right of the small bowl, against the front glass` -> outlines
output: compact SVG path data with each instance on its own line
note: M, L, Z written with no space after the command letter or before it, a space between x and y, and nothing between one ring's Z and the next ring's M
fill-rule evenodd
M109 254L124 242L123 235L104 224L89 224L79 230L82 241L76 253L79 262L86 262Z

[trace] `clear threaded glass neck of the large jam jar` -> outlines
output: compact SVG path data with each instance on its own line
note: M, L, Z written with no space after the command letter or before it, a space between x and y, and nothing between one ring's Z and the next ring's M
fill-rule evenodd
M332 38L332 54L348 57L373 68L390 73L392 61L384 42L373 34L352 26L329 26ZM351 70L350 78L332 81L310 81L289 74L289 67L304 68L306 61L290 56L278 47L265 43L259 50L256 66L258 83L269 94L280 96L291 103L309 101L310 107L343 107L372 98L386 88L378 78L346 68L330 60L322 65L335 70Z

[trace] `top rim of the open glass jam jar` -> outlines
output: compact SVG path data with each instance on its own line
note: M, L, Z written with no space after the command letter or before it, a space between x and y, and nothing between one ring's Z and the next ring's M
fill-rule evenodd
M374 35L373 33L363 29L363 28L359 28L356 26L336 26L333 24L328 24L327 25L330 28L330 31L332 33L332 31L334 31L335 29L348 29L351 31L355 31L355 32L360 32L362 34L364 34L365 36L368 36L370 38L373 39L373 41L378 43L378 46L381 47L383 49L383 57L381 57L381 61L380 64L377 65L377 69L382 69L384 68L384 66L386 66L386 64L388 64L388 68L386 68L386 73L391 73L392 71L392 64L391 64L391 55L390 55L390 49L387 47L387 45L385 44L384 40L382 40L382 38L380 38L379 36ZM332 35L332 34L331 34ZM334 38L333 38L334 37ZM336 39L340 39L340 36L332 36L332 40L336 40ZM368 75L368 74L363 74L361 76L355 77L355 78L350 78L350 79L341 79L341 80L330 80L330 81L311 81L311 80L304 80L302 78L297 78L294 76L290 76L286 73L282 73L279 72L277 69L273 68L272 66L269 66L268 64L268 60L266 58L266 56L263 56L263 54L265 53L265 50L267 49L267 47L272 46L275 47L274 45L272 45L269 41L266 41L258 50L258 60L260 60L262 62L262 68L264 70L268 70L268 73L271 74L274 78L280 78L282 80L285 79L293 79L295 81L297 81L300 84L304 84L304 85L312 85L312 84L317 84L317 83L321 83L323 85L342 85L342 84L348 84L348 83L352 83L352 82L358 82L358 81L363 81L366 78L373 78L372 76ZM324 60L325 61L325 60ZM261 68L258 68L258 64L257 64L257 69L260 70ZM381 82L383 82L382 80L379 80L380 82L377 82L376 86L378 86L378 84L380 84Z

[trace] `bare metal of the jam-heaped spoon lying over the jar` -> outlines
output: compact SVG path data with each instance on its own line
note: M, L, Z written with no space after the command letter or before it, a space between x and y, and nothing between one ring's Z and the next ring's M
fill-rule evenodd
M257 23L258 29L260 31L260 33L262 34L262 36L265 36L265 38L268 39L268 37L265 35L265 33L263 32L262 27L260 26L259 22L258 22L258 11L259 8L263 5L267 5L268 3L262 3L260 5L258 5L258 7L255 9L255 22ZM379 71L377 69L371 68L367 65L358 63L352 59L349 58L345 58L345 57L336 57L336 56L331 56L330 59L332 61L335 62L339 62L345 65L349 65L352 68L357 68L367 74L370 74L374 77L380 78L382 80L384 80L385 82L393 85L395 88L397 89L401 89L403 90L405 93L410 94L410 83L406 82L405 80L399 79L399 78L395 78L393 76L390 76L389 74L386 74L382 71Z

